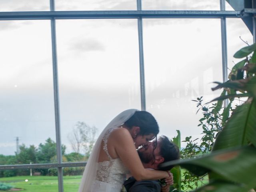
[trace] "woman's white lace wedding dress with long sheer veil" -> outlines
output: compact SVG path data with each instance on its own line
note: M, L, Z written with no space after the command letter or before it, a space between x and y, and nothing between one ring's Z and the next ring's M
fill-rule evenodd
M121 112L102 131L86 164L79 192L121 191L128 169L123 165L120 158L111 158L108 153L107 142L111 132L124 124L136 111L138 110L129 109ZM104 142L103 149L108 155L109 160L98 162L102 141Z

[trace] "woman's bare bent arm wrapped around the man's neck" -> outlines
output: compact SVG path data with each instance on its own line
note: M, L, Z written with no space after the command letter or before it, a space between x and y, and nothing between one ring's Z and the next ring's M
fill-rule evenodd
M143 167L138 152L134 146L132 136L128 130L118 129L113 132L111 137L116 153L137 181L157 180L169 177L169 174L166 171L149 170Z

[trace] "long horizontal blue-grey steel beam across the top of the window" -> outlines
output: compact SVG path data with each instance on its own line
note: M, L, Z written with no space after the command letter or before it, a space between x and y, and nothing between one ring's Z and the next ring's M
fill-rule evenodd
M242 18L241 11L33 11L0 12L0 20L123 19L123 18Z

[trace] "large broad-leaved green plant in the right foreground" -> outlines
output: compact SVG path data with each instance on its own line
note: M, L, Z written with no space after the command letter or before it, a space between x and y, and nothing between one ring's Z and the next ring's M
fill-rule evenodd
M196 192L248 192L256 188L256 44L240 49L234 57L244 60L232 68L227 82L216 82L218 86L212 90L224 91L214 101L229 99L228 112L234 98L246 101L232 109L230 118L222 115L223 129L210 154L166 163L180 165L197 176L208 173L210 183Z

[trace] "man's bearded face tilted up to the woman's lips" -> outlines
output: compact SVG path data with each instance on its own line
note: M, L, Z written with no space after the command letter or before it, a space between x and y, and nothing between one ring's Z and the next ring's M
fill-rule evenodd
M143 163L154 162L154 156L160 155L160 146L161 140L148 142L147 145L144 145L142 148L138 149L138 154L140 156L140 160ZM153 155L154 154L154 155Z

